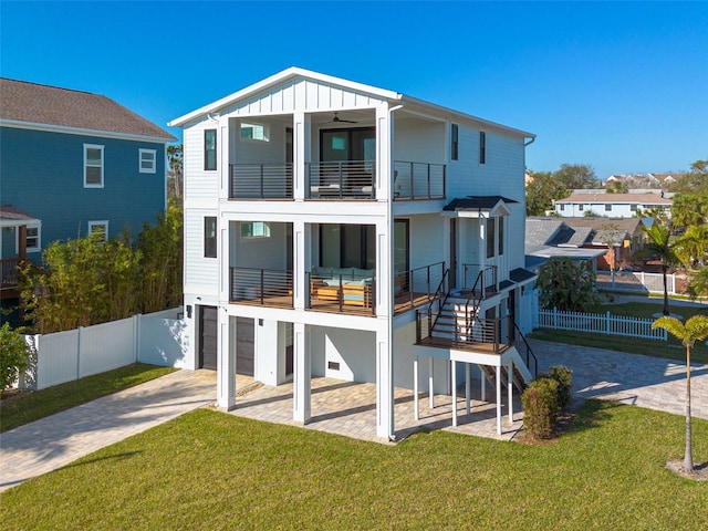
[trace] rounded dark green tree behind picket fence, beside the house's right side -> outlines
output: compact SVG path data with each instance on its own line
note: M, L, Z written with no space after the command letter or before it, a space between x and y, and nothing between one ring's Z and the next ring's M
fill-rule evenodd
M587 261L570 258L549 260L535 281L541 306L566 312L582 312L597 304L595 272Z

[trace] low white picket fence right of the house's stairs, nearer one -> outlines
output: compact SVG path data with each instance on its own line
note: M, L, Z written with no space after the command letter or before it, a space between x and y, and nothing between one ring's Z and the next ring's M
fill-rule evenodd
M645 340L667 341L666 330L652 330L653 319L612 315L610 312L581 313L558 310L539 310L538 326L542 329L572 330L596 334L623 335Z

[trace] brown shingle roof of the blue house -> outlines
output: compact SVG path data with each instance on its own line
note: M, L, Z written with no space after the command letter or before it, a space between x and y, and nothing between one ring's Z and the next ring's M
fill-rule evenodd
M0 77L0 124L117 133L162 142L173 135L106 96Z

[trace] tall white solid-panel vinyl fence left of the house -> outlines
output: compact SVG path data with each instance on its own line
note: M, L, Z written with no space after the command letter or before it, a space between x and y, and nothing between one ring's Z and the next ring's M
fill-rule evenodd
M80 326L54 334L25 335L30 368L19 387L43 389L135 362L180 367L185 358L181 309Z

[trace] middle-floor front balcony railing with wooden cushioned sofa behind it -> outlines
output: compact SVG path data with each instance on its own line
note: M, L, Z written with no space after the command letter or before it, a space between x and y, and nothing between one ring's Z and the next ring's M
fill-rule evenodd
M375 275L361 277L341 272L320 274L308 271L305 282L310 287L306 299L306 308L309 309L334 310L339 313L364 310L376 315Z

